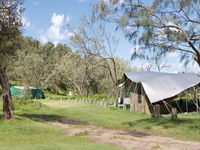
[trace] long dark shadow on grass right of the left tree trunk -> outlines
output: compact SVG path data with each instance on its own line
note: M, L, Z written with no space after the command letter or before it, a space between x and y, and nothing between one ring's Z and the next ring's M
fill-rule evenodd
M88 125L87 122L71 120L65 116L59 116L59 115L26 114L25 113L19 116L25 117L34 121L39 121L39 122L59 122L59 123L70 124L70 125Z

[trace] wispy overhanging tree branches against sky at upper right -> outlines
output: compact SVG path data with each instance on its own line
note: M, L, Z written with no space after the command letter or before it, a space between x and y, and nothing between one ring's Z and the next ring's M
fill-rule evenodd
M185 64L193 59L200 65L199 6L199 0L104 0L96 10L140 46L140 55L134 52L132 58L176 51Z

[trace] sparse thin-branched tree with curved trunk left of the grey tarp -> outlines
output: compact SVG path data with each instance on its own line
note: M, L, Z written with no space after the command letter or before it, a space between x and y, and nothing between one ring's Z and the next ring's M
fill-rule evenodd
M117 43L116 38L107 30L106 22L95 20L93 15L82 18L78 30L71 38L71 45L85 59L86 66L90 64L106 69L114 85L117 84L114 59Z

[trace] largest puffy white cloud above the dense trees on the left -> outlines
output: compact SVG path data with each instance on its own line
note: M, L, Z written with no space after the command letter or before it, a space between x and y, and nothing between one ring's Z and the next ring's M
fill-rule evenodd
M65 17L64 14L53 13L51 17L51 26L47 30L40 30L41 42L44 44L50 41L57 45L59 42L73 36L73 33L66 29L66 25L69 24L69 22L69 16Z

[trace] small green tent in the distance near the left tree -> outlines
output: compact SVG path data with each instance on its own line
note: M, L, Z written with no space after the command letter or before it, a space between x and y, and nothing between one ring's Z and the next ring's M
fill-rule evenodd
M16 98L30 98L30 99L44 99L44 93L42 90L34 88L34 87L29 87L25 88L23 86L12 86L10 88L11 95L15 96Z

